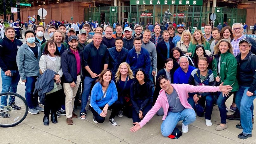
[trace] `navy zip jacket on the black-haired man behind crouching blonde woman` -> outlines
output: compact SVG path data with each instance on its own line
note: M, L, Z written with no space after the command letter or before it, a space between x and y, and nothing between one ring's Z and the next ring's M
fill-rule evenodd
M110 56L108 69L110 69L112 71L112 74L115 75L119 65L125 62L128 50L123 47L122 50L119 52L116 50L116 47L112 47L108 49L108 51Z

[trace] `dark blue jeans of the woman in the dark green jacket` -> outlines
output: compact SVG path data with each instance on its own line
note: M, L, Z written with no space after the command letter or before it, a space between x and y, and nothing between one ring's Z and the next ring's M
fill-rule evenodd
M226 105L225 102L226 100L233 94L233 92L229 92L228 97L226 96L222 96L222 92L219 93L219 97L217 99L217 104L218 104L218 108L220 111L220 116L221 116L221 123L222 124L226 124L227 123L227 111L226 111Z

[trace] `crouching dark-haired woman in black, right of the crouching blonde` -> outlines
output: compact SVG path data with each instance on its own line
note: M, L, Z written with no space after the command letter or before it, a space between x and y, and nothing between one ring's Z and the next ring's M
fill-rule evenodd
M152 81L148 80L143 69L135 72L136 80L131 84L132 121L140 122L152 108Z

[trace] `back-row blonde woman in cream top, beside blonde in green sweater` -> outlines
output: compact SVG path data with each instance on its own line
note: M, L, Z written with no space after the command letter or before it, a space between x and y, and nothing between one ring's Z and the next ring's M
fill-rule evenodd
M184 31L181 35L180 41L177 42L176 46L180 48L183 53L187 53L190 42L192 42L191 33L189 31Z

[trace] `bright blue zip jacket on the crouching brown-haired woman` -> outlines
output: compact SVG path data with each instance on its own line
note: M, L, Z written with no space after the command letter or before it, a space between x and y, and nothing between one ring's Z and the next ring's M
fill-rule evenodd
M107 104L109 106L113 105L113 103L118 99L116 84L113 80L111 80L111 82L109 83L105 98L102 98L103 94L104 93L102 92L101 83L97 82L92 88L90 105L95 111L98 112L98 114L101 114L101 108L103 108Z

